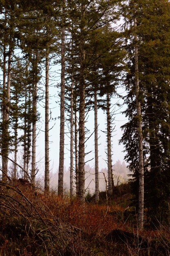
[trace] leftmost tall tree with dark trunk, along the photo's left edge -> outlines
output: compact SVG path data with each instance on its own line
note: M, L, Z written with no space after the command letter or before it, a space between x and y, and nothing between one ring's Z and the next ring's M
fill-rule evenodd
M9 109L10 109L10 87L11 87L11 58L15 48L15 12L7 9L4 4L4 20L2 27L3 35L3 93L2 93L2 137L1 137L1 154L2 154L2 180L7 181L8 173L8 154L10 145L9 136ZM7 67L7 84L6 84L6 57L8 56Z

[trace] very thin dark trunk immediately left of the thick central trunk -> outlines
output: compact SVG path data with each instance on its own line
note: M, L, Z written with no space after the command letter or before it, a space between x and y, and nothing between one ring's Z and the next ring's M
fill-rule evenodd
M78 131L77 131L77 110L75 103L75 186L76 186L76 195L78 196L78 184L79 184L79 166L78 166Z

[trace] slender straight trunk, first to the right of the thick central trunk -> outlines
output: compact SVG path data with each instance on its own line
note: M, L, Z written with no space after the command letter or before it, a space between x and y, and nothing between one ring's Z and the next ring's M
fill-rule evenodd
M97 124L97 90L94 95L95 110L95 202L99 202L99 157L98 157L98 124Z

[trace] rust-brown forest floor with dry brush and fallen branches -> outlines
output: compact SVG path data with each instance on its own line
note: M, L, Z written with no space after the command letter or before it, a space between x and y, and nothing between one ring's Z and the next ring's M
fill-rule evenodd
M0 182L0 256L166 256L169 227L137 228L129 184L80 204L28 184ZM145 210L146 211L146 210Z

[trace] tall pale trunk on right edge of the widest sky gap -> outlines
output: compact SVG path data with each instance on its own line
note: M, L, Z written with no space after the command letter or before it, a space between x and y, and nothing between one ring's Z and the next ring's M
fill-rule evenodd
M63 1L65 4L65 1ZM63 7L64 13L64 7ZM64 14L63 14L64 15ZM65 28L64 18L62 20L62 45L61 45L61 94L60 94L60 159L58 170L58 195L63 197L64 177L64 99L65 99Z

